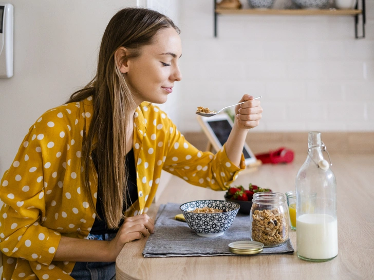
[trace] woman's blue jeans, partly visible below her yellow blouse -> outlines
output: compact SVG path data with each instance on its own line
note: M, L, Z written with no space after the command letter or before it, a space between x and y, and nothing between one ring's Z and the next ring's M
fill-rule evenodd
M116 234L89 234L87 239L109 241L115 236ZM70 276L76 280L115 280L116 263L77 262Z

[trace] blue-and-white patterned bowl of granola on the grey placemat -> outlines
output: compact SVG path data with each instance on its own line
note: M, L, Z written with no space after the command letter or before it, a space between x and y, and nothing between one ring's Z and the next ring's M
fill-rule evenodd
M196 208L216 208L223 210L222 213L192 213ZM229 201L192 201L182 204L179 209L182 210L185 221L189 227L202 237L221 236L225 230L230 228L240 205Z

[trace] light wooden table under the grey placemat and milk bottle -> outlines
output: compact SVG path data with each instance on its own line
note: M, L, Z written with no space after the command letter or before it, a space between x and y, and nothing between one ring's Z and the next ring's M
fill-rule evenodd
M239 175L234 185L249 183L285 193L306 158L289 165L264 165ZM126 244L117 257L117 279L374 279L374 155L331 155L338 182L339 254L332 261L312 263L293 255L152 257L144 258L146 238ZM160 204L197 199L223 199L215 192L173 177L160 201L149 209L155 217ZM296 250L296 232L289 231Z

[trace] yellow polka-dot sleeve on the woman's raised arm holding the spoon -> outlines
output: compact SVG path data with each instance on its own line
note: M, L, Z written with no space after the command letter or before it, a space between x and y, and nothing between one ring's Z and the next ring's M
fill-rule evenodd
M241 155L239 168L228 158L225 145L216 154L199 151L186 141L171 121L168 134L169 148L163 169L192 185L226 190L238 172L245 168L244 155Z

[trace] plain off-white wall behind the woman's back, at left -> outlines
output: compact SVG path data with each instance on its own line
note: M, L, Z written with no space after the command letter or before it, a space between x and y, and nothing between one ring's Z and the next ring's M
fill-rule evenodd
M14 75L0 79L0 177L29 127L95 75L109 19L136 0L8 0L14 6Z

